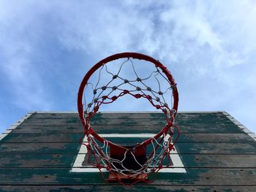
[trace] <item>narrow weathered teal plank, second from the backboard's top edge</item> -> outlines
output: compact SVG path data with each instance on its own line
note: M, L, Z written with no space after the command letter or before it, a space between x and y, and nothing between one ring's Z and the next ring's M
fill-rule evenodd
M140 114L140 118L131 118L128 114L123 114L121 118L110 118L105 117L107 114L101 114L97 115L95 118L91 118L91 126L116 126L116 125L124 125L124 126L130 126L130 125L161 125L164 126L166 123L165 116L162 114L157 114L152 117L148 117L148 115ZM115 115L115 114L112 114ZM146 117L145 117L146 116ZM147 118L148 117L148 118ZM33 118L33 116L26 120L26 125L47 125L47 126L53 126L53 125L72 125L72 126L79 126L80 120L79 118ZM208 125L208 126L219 126L219 125L229 125L233 124L231 120L225 117L225 115L212 115L209 114L203 114L198 115L195 114L178 114L176 117L176 123L179 126L183 125Z

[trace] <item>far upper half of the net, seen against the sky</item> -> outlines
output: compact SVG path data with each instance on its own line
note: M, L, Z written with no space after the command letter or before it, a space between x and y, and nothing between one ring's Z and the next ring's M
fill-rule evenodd
M116 63L103 65L98 72L94 73L98 77L91 77L87 82L83 99L85 116L90 112L94 113L94 110L102 104L110 104L127 94L135 98L146 98L154 107L165 110L168 114L176 112L170 111L173 109L173 86L175 85L171 85L157 66L138 59L121 60L123 61L119 61L119 67ZM138 72L135 66L140 66ZM113 69L113 72L109 68ZM127 73L128 71L131 73ZM138 74L142 74L142 77ZM168 97L165 98L165 95Z

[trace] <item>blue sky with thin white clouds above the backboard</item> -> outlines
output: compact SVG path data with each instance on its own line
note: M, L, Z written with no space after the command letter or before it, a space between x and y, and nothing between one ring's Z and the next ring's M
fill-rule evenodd
M122 52L167 66L179 111L226 111L255 132L255 23L249 0L1 0L0 132L27 112L77 111L86 72Z

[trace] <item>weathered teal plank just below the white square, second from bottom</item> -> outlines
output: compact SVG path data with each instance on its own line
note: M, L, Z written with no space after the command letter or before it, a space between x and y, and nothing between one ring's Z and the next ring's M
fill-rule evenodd
M18 176L18 177L17 177ZM151 179L151 177L150 177ZM197 169L158 173L147 185L255 185L256 169ZM99 173L72 173L67 168L0 169L0 185L109 185Z

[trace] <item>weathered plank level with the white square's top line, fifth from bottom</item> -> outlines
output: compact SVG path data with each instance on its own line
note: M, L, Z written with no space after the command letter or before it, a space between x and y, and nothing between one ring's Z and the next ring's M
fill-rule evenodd
M15 133L8 134L1 142L78 142L83 134L48 134L48 133ZM176 137L176 135L174 135ZM113 142L140 142L146 138L124 137L106 139ZM181 134L177 142L233 142L245 143L252 142L252 137L247 134Z

